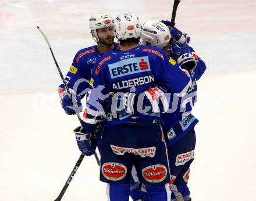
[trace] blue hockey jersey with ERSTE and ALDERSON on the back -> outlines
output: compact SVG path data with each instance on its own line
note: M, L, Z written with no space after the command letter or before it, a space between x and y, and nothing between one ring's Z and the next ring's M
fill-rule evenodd
M92 89L84 117L87 124L96 124L97 118L104 114L109 92L131 92L133 89L132 92L140 94L161 84L172 93L180 93L187 91L191 80L161 49L137 46L129 51L111 51L102 56L95 63L90 82ZM113 117L108 113L106 125L120 124L133 116L156 119L159 114L125 114Z

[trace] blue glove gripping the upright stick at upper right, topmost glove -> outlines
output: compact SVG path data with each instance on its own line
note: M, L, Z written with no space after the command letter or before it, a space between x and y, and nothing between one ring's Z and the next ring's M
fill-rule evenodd
M180 42L182 44L189 44L190 42L190 37L187 36L186 33L178 30L175 27L171 27L170 26L170 21L169 20L161 20L163 24L165 24L166 26L168 26L169 30L170 30L170 35L172 36L172 43L175 42Z

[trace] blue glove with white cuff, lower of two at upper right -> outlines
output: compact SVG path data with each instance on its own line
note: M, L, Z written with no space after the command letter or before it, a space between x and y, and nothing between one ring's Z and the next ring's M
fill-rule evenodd
M173 54L173 58L181 67L186 64L186 67L189 70L193 70L197 66L197 62L192 54L189 45L180 44L177 42L175 44L172 44L172 46L170 47L170 51Z

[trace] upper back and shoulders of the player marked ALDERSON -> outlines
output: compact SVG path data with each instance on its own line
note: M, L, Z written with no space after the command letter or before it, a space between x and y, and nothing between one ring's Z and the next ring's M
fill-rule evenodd
M189 78L170 60L161 49L152 46L112 51L95 64L94 83L104 85L107 92L130 92L133 88L133 92L140 94L161 82L170 91L179 93L187 85ZM99 77L101 80L97 81ZM173 84L176 85L170 82L175 82Z

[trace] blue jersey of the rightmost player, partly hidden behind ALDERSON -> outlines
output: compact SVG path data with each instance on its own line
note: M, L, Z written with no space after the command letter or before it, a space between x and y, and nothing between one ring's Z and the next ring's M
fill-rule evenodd
M194 53L192 48L191 51L193 52L194 59L197 62L197 67L190 71L189 68L186 67L186 64L182 66L184 73L191 78L191 85L187 89L186 95L182 97L177 96L161 84L158 85L158 88L164 92L163 96L165 96L167 100L165 103L168 103L169 105L168 111L166 111L166 105L164 106L164 102L162 101L163 99L161 98L158 100L157 108L161 113L162 127L166 134L167 145L172 145L184 137L184 135L186 135L191 128L198 123L197 118L191 114L191 111L195 102L197 102L197 80L199 80L204 73L206 66L204 61ZM144 107L150 107L151 110L153 110L151 101L152 100L147 98L143 99ZM138 112L136 108L134 108L134 110Z

